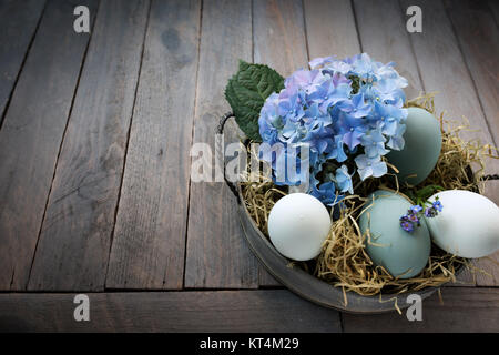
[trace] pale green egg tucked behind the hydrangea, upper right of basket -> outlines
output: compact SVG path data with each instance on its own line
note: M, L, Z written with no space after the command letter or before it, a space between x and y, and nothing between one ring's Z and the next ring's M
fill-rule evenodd
M441 132L438 120L428 111L419 108L408 108L407 111L404 149L394 150L386 156L399 170L400 182L417 185L428 178L437 164Z

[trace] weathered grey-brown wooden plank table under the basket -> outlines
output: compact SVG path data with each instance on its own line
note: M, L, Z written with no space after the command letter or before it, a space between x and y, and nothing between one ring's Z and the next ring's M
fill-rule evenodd
M406 30L410 4L422 33ZM279 286L228 189L190 180L238 59L285 75L329 54L396 61L409 97L439 91L438 110L498 145L498 19L493 0L0 1L0 328L498 332L498 253L422 322L340 314ZM487 195L499 203L498 181ZM73 320L78 293L90 322Z

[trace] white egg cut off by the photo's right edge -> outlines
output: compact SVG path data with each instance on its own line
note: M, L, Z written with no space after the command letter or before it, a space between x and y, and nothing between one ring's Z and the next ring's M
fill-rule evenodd
M499 207L489 199L464 190L448 190L438 196L444 210L426 219L434 242L448 253L475 258L499 248Z

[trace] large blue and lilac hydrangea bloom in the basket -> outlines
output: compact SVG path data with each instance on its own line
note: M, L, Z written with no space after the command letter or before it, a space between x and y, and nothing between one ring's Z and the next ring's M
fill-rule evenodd
M373 61L366 53L344 60L317 58L309 64L310 70L294 72L281 92L266 99L259 134L264 143L281 148L261 158L272 164L277 184L308 179L308 193L330 205L342 194L354 193L355 174L360 180L386 174L381 158L404 148L407 80L394 63ZM303 159L295 149L303 144L309 148L309 176L304 169L277 172L288 165L284 161Z

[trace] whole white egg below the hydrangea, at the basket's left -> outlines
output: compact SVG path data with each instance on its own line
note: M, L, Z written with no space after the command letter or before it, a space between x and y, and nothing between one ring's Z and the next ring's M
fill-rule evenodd
M305 193L284 196L268 216L272 243L281 254L296 261L316 257L329 229L327 209L316 197Z

